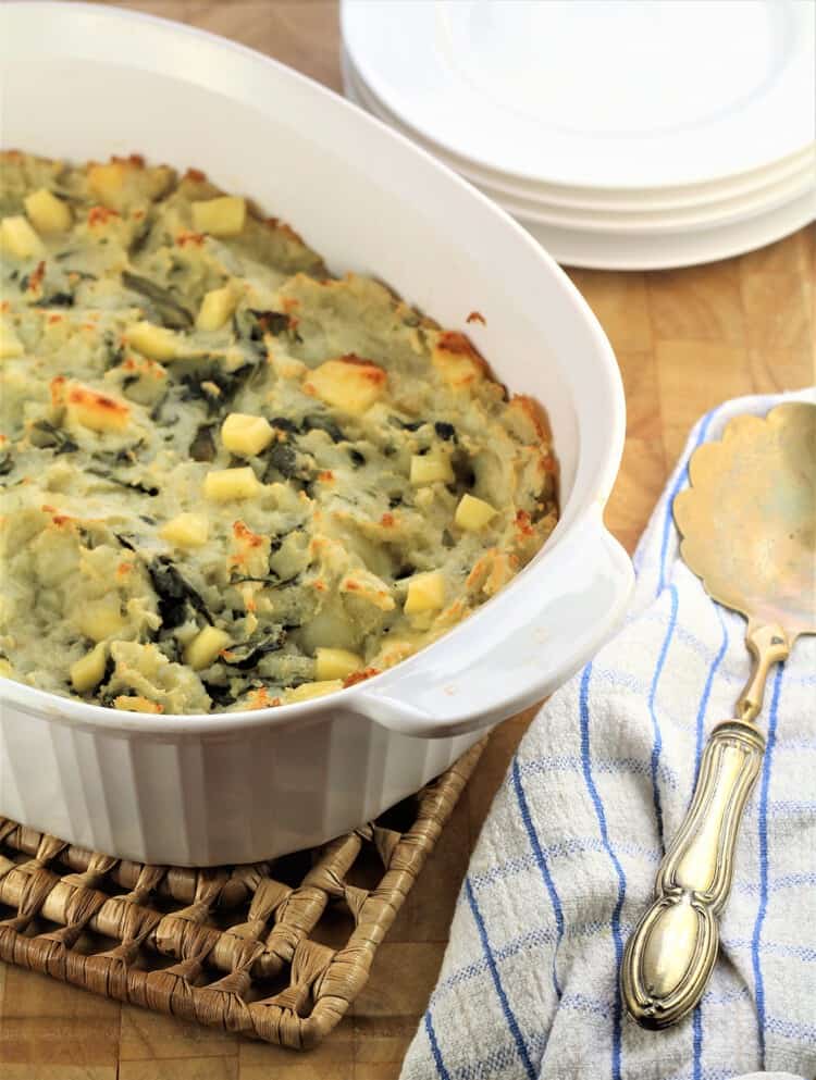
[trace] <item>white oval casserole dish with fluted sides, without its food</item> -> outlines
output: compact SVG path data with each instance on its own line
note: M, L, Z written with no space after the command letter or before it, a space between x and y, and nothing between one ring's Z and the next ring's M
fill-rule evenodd
M203 169L292 222L335 271L382 277L546 406L561 521L436 644L326 698L147 717L0 679L0 814L148 862L268 858L354 828L574 672L622 616L629 559L602 523L623 393L599 325L487 199L342 98L220 38L89 4L0 7L2 141L74 160Z

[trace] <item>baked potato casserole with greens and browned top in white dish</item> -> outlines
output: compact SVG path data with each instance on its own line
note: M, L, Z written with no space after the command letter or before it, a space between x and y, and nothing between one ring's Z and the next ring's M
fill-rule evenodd
M195 170L0 171L0 673L144 712L302 700L553 530L544 415L463 334Z

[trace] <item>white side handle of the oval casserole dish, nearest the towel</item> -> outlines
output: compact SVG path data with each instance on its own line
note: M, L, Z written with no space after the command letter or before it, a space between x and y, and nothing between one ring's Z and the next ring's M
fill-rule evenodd
M622 620L633 582L597 509L433 647L361 683L348 710L422 738L492 727L594 656Z

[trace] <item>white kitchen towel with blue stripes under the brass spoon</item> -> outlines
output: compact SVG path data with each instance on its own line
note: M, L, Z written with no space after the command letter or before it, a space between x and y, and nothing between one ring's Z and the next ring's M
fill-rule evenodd
M745 622L680 560L671 501L700 443L796 398L816 393L729 401L693 431L638 548L626 625L542 709L496 795L401 1080L816 1077L814 637L769 680L767 750L702 1004L644 1031L618 989L706 734L749 675Z

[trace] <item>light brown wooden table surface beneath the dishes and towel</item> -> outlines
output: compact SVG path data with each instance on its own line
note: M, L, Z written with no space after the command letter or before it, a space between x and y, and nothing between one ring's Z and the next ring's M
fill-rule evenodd
M335 0L127 0L121 5L232 37L339 88ZM626 452L606 520L632 550L702 412L735 395L815 381L816 231L691 270L579 270L570 276L609 335L623 374ZM178 1023L0 965L2 1080L397 1077L442 960L468 854L529 720L530 713L523 713L494 733L379 951L368 986L353 1014L316 1052L298 1055Z

